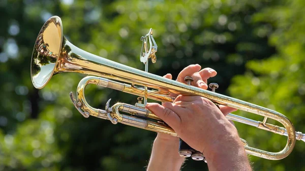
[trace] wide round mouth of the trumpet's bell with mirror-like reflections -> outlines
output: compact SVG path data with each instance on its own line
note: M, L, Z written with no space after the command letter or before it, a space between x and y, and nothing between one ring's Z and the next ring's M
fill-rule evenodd
M44 34L46 31L47 33ZM45 40L46 37L47 40ZM32 53L31 79L36 89L44 88L53 76L62 43L62 20L58 16L52 16L42 26Z

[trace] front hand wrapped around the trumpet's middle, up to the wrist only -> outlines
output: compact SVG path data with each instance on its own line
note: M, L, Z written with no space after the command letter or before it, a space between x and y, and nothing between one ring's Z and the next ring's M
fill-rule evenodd
M174 103L166 102L163 105L149 103L146 108L173 128L187 144L200 152L210 148L222 138L224 129L230 128L237 133L235 127L214 103L199 96L179 95Z

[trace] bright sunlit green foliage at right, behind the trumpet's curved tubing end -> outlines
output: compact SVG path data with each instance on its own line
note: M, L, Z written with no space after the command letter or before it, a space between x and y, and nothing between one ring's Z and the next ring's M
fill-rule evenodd
M249 61L246 64L247 73L236 76L229 88L232 96L283 113L294 123L297 131L305 129L303 122L305 118L301 115L305 109L305 61L302 58L305 54L303 48L305 19L301 17L304 5L303 1L283 1L275 7L265 7L253 16L255 22L267 22L274 25L275 29L269 35L268 42L275 46L277 53L265 60ZM286 140L281 136L270 138L269 133L255 133L260 139L268 139L266 143L260 142L261 148L279 151L286 144ZM240 135L249 134L244 132ZM280 161L268 162L253 157L254 168L305 170L304 166L294 162L305 160L304 149L305 145L297 142L292 154Z

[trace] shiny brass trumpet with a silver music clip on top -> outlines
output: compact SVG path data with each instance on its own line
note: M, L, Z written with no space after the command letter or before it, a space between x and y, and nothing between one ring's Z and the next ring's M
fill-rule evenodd
M110 120L113 124L126 124L172 136L178 135L164 121L145 108L147 99L173 102L175 98L171 97L170 93L201 96L216 104L230 106L264 117L261 122L230 113L227 116L230 120L287 136L286 146L280 152L256 149L245 143L247 154L270 160L280 160L287 157L292 152L296 140L305 141L305 134L296 132L292 123L282 113L148 73L149 60L151 59L153 63L157 60L158 46L153 38L153 30L150 29L141 40L143 44L140 61L145 64L145 71L110 61L74 46L64 37L60 18L53 16L45 22L40 30L33 50L31 78L34 87L42 89L50 78L58 73L76 72L90 75L79 82L76 97L72 92L70 93L74 106L85 118L94 116ZM94 108L85 99L84 91L88 84L96 84L139 96L138 102L135 105L115 103L110 107L111 99L109 99L105 109ZM280 122L284 127L268 124L268 118Z

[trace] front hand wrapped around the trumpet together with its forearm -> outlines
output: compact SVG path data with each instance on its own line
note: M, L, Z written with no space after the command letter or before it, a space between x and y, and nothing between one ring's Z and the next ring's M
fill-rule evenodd
M174 103L146 106L206 158L210 170L251 170L236 128L210 100L177 96Z

